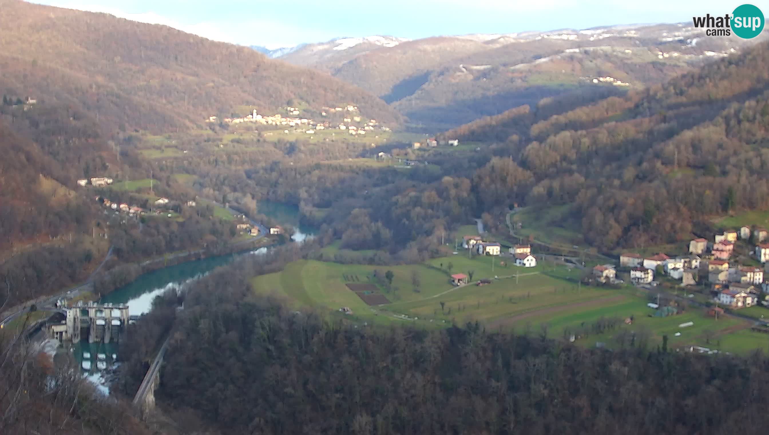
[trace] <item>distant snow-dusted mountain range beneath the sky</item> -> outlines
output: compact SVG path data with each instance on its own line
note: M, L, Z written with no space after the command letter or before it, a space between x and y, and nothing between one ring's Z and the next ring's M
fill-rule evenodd
M674 23L415 40L373 35L255 49L357 85L415 129L437 132L564 93L619 95L765 39L707 37L691 23Z

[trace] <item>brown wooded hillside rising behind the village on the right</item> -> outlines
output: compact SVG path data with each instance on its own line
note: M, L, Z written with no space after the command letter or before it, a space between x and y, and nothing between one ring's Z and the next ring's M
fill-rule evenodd
M763 43L624 97L549 117L524 106L447 137L504 143L531 173L526 202L574 204L595 246L676 242L696 219L769 207L767 66Z

